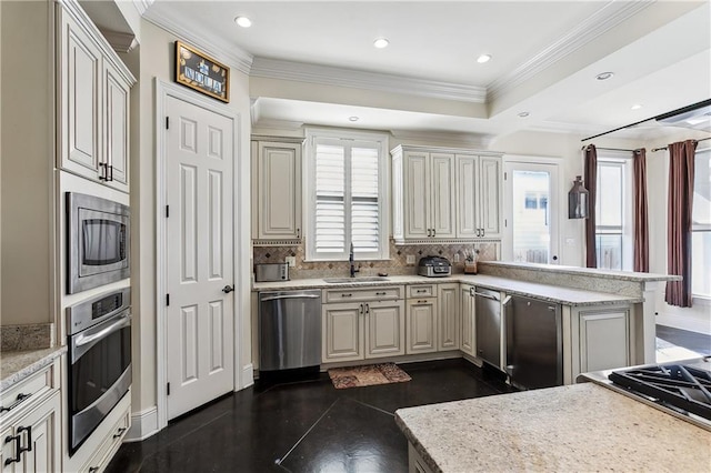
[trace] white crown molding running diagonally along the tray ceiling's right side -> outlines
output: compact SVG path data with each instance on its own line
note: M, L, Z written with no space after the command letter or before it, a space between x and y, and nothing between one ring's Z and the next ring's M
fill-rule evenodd
M487 87L487 101L492 102L504 95L655 1L608 2L603 8L577 24L548 48L533 56L509 74L490 83Z

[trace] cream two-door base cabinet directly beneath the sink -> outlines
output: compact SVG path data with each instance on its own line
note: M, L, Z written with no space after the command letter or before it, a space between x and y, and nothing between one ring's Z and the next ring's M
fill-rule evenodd
M405 353L402 288L324 290L322 362L370 360ZM372 299L369 299L372 298Z

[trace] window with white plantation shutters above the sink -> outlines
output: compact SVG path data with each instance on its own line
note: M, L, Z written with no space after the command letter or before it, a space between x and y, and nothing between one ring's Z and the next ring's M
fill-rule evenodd
M307 131L307 261L382 260L388 246L388 137Z

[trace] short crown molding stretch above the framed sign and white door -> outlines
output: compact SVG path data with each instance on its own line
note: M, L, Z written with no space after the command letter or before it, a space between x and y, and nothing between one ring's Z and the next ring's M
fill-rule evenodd
M207 54L210 54L230 68L234 68L246 74L250 73L253 61L252 54L213 36L208 39L206 36L196 33L194 29L188 29L171 19L158 17L152 13L152 11L151 9L147 10L146 13L143 13L143 19L178 37L181 41L186 41L204 51Z

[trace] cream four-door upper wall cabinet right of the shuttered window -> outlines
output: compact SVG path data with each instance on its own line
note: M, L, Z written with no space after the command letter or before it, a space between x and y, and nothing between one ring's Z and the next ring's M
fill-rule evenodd
M400 145L392 154L397 242L501 238L501 155Z

